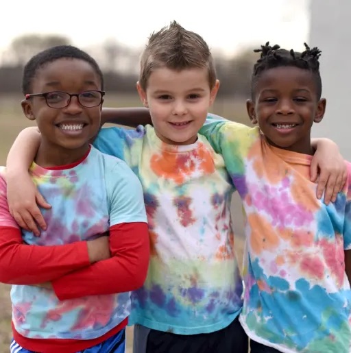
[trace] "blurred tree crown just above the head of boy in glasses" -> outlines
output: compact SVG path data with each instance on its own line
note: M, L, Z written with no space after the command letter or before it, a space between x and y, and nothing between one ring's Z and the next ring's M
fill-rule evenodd
M32 56L39 51L45 50L56 45L69 45L71 40L65 36L57 34L25 34L12 40L10 45L10 55L12 62L23 66Z

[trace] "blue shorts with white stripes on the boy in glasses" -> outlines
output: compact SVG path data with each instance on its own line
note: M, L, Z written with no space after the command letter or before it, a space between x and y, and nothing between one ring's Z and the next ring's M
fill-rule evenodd
M22 348L19 343L16 343L14 339L12 339L10 345L11 353L41 353L41 352L33 352L32 350L26 350ZM119 331L117 334L114 334L106 341L99 343L98 345L94 345L94 347L86 348L86 350L80 350L77 353L124 353L125 352L125 328Z

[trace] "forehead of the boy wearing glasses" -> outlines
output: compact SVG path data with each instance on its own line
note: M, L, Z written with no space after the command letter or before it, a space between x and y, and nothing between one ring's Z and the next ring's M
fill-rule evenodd
M93 66L85 60L61 58L41 66L32 80L32 86L47 84L95 84L101 86L101 80Z

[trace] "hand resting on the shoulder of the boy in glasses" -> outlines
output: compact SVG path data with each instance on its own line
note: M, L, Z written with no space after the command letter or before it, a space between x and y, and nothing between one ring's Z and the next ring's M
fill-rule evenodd
M47 225L38 206L51 208L39 193L28 173L23 175L5 175L8 187L8 206L12 217L21 228L40 235L38 226L45 230Z

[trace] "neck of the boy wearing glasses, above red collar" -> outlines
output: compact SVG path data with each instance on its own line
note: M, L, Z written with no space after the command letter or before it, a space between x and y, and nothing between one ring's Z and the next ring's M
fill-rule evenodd
M71 165L82 159L88 149L88 143L76 149L66 149L58 145L51 145L47 141L42 141L34 161L43 168Z

